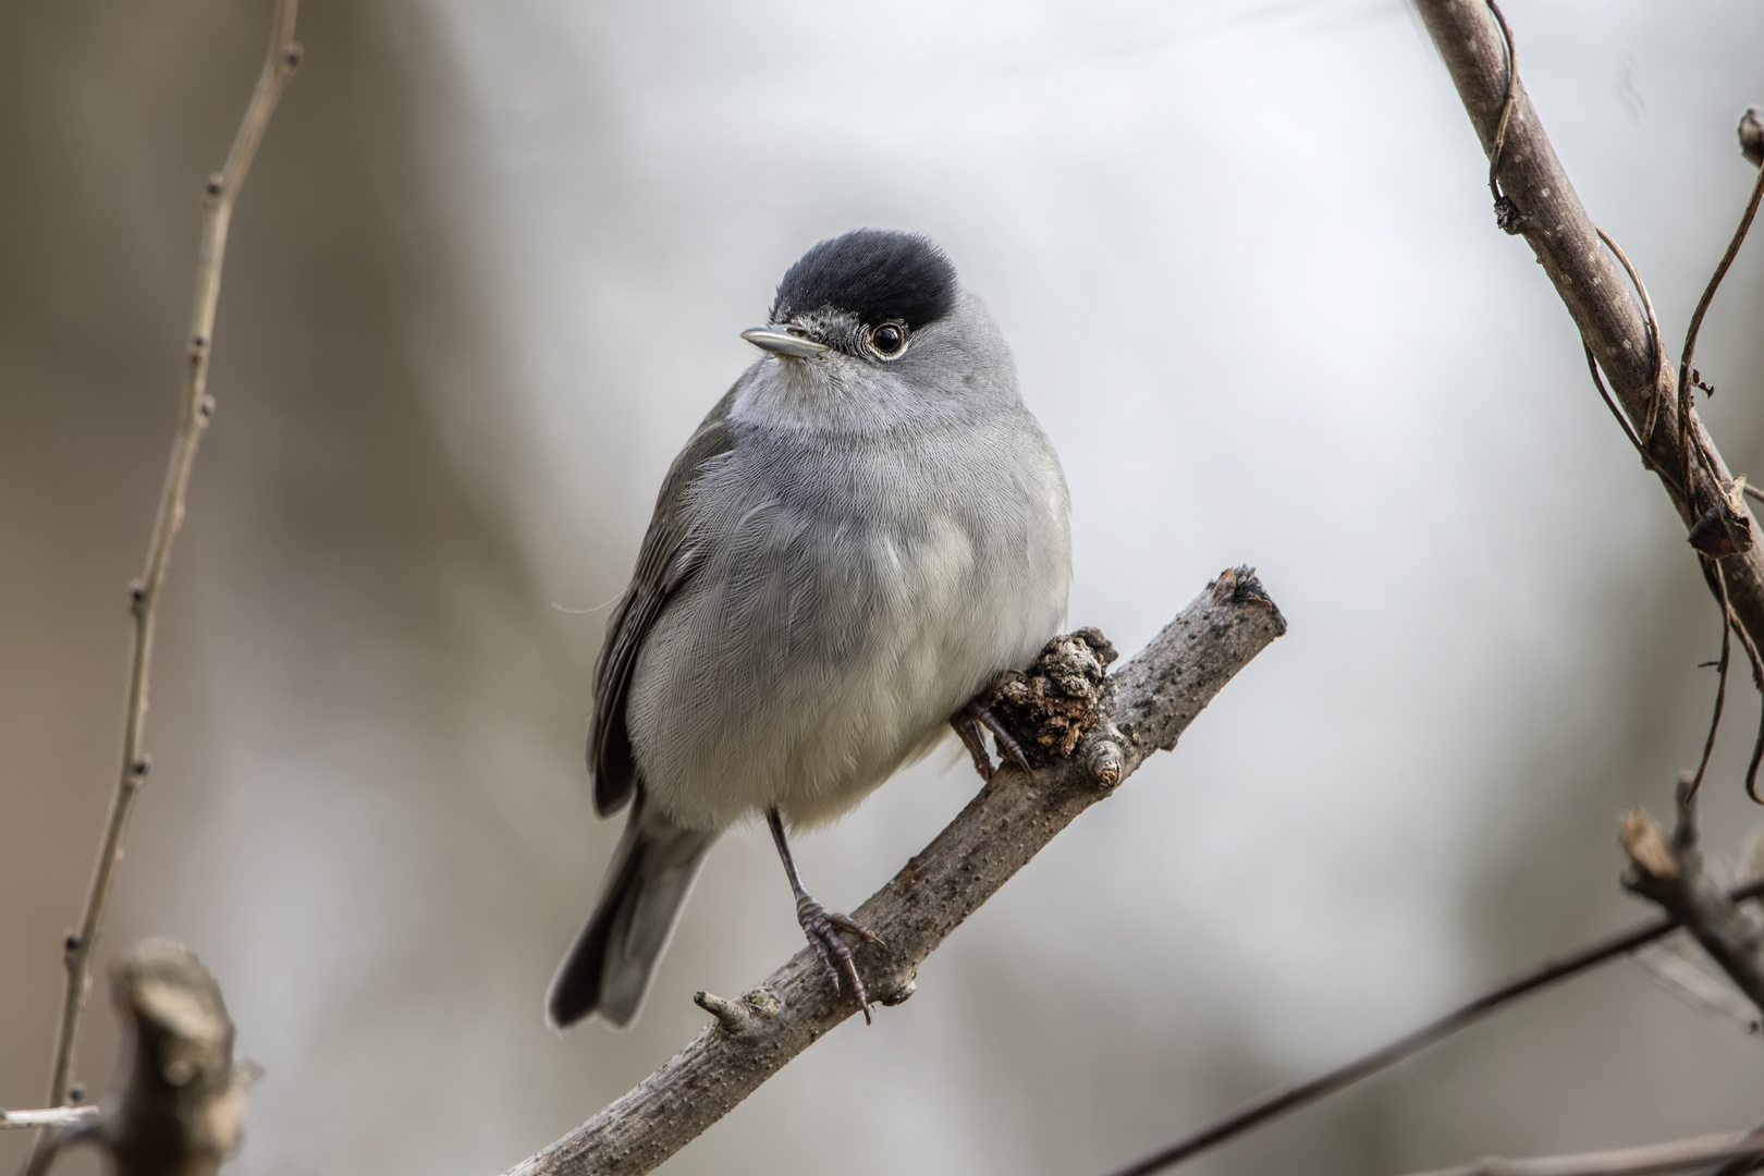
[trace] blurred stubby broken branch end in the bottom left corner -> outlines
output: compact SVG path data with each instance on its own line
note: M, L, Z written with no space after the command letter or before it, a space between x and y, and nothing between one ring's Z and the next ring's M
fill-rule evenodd
M102 1143L123 1176L210 1176L238 1150L256 1067L233 1061L220 986L191 949L146 940L115 973L132 1026Z

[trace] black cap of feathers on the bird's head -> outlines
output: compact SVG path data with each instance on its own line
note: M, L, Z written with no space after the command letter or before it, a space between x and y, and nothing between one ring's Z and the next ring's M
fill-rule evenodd
M944 317L954 294L956 268L930 238L852 229L785 270L771 317L833 309L856 314L859 323L900 319L919 330Z

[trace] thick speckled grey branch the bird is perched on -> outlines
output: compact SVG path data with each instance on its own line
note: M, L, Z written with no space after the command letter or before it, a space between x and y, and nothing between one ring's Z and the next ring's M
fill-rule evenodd
M887 943L856 949L870 991L898 1005L919 964L1057 832L1108 797L1152 751L1286 631L1247 568L1226 571L1132 661L1106 679L1101 714L1071 755L1025 774L1005 767L852 917ZM1058 654L1099 642L1064 640ZM1050 647L1051 649L1051 647ZM1101 679L1101 665L1095 679ZM1057 721L1057 719L1055 719ZM647 1172L845 1021L856 1005L804 949L739 1000L699 994L716 1021L667 1065L508 1176Z

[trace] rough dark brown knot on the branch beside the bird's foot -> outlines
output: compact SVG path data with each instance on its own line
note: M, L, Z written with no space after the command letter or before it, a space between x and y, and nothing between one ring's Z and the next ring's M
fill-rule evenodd
M1032 767L1064 760L1102 716L1115 645L1083 628L1048 642L1028 674L1005 675L984 698Z

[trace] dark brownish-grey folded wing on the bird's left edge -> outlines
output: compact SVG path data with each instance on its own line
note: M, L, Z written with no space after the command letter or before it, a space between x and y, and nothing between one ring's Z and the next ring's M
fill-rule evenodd
M607 640L594 663L594 718L587 735L587 770L594 778L594 811L602 816L617 813L637 790L637 762L624 726L624 691L662 607L691 571L686 540L693 520L684 492L706 462L734 446L729 430L734 398L736 390L730 388L669 467L649 532L637 554L632 585L624 589L607 622Z

